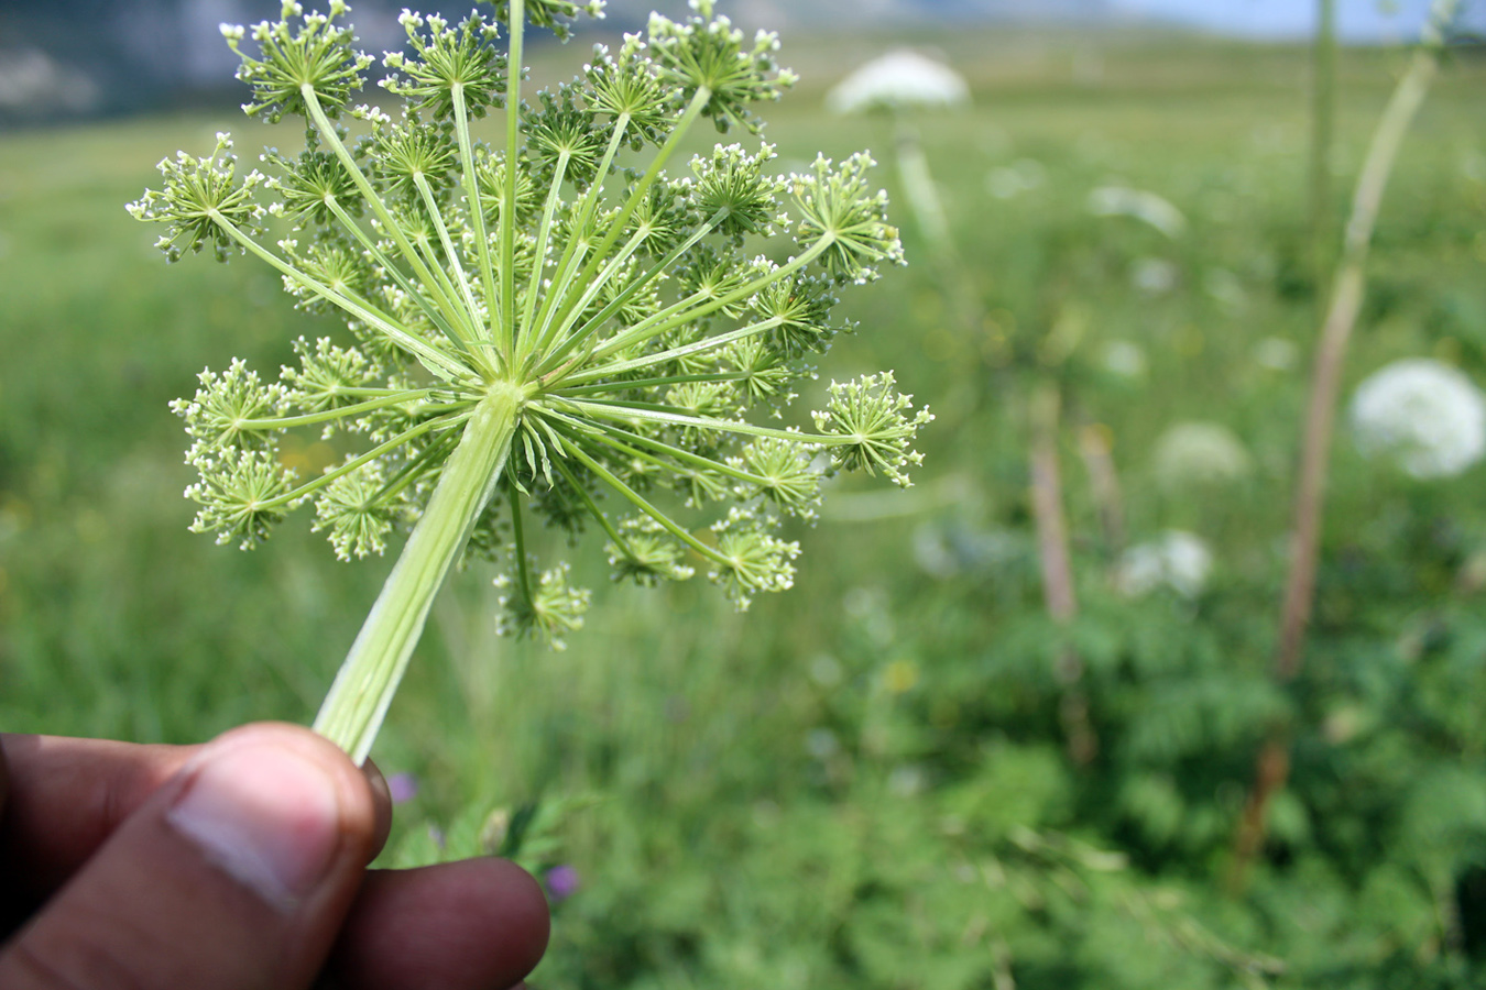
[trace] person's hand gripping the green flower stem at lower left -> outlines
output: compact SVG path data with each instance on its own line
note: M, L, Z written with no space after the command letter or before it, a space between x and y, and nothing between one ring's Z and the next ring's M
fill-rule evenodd
M498 859L366 870L382 775L308 729L202 747L0 735L0 987L513 987L547 902Z

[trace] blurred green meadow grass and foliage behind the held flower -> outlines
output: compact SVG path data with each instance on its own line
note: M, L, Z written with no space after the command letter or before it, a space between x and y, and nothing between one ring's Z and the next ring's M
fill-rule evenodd
M459 574L376 751L425 782L395 855L437 855L429 825L458 845L493 807L566 809L550 825L559 845L532 853L577 864L585 882L559 905L547 986L1008 986L997 974L1025 987L1260 986L1241 977L1245 951L1290 960L1287 987L1471 986L1450 983L1465 972L1462 925L1435 916L1486 852L1486 815L1470 810L1486 779L1486 681L1471 680L1486 634L1461 577L1486 551L1479 469L1410 485L1340 436L1317 672L1290 696L1265 687L1317 315L1303 53L932 40L976 86L973 110L917 125L988 319L950 321L899 208L921 263L850 300L860 331L822 368L828 380L893 367L941 411L921 485L896 500L837 491L838 518L798 534L796 588L746 616L704 583L608 586L602 561L583 558L599 594L560 655L496 640L490 574ZM786 61L807 83L768 114L782 157L872 147L902 202L889 125L819 108L859 43L794 49ZM557 58L542 52L538 74L556 74ZM1343 59L1337 190L1397 65ZM1483 88L1486 65L1453 64L1406 145L1348 381L1419 353L1486 371ZM0 140L6 730L187 742L247 720L306 721L391 566L337 564L303 518L253 554L186 531L190 471L166 402L202 367L273 368L294 335L334 332L293 312L263 266L166 270L153 233L125 214L160 156L199 153L218 129L245 157L265 140L227 114ZM1043 183L997 199L987 175L999 168ZM1109 181L1159 191L1189 235L1089 217L1089 190ZM1132 286L1147 257L1175 266L1171 292ZM1073 359L1039 368L1060 324L1083 327ZM1296 370L1256 364L1266 337L1296 343ZM1100 370L1110 340L1144 349L1143 380ZM1061 754L1049 671L1062 640L1040 614L1030 551L1021 408L1034 374L1060 376L1079 416L1109 427L1132 536L1192 528L1219 560L1198 604L1113 595L1065 442L1085 600L1070 635L1106 745L1091 770ZM1152 444L1193 419L1232 427L1253 478L1162 488ZM917 563L915 542L935 533L970 548L954 577ZM987 534L1000 549L984 549ZM1413 721L1386 724L1404 695ZM1312 748L1254 892L1229 901L1221 856L1276 711L1314 729L1302 733ZM1192 724L1192 712L1205 714ZM1339 712L1383 724L1340 738ZM1431 807L1421 779L1443 781L1444 810L1409 813L1456 824L1395 815ZM1113 852L1131 865L1114 868Z

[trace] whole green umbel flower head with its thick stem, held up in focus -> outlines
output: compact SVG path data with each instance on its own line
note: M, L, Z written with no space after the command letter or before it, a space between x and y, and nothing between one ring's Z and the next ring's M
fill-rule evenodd
M342 558L410 527L315 723L357 760L462 555L505 566L504 632L554 646L590 595L566 561L538 567L538 521L602 533L615 579L700 570L746 609L791 586L799 548L779 528L816 517L823 478L908 485L920 462L932 417L890 373L832 383L814 429L791 424L794 389L846 330L837 294L902 248L866 154L779 175L771 145L733 144L673 166L695 123L758 134L755 104L794 82L773 34L750 42L712 0L691 7L597 46L532 102L528 25L566 37L599 0L504 0L459 24L404 12L406 50L380 59L392 117L355 102L374 59L346 4L288 1L278 22L223 34L244 110L300 119L303 150L242 174L220 135L205 157L162 162L163 187L129 206L165 224L171 260L256 255L299 306L346 321L342 343L299 340L276 381L235 361L174 410L201 473L193 528L218 542L251 548L311 502ZM493 145L471 128L490 111ZM300 427L360 453L297 478L278 444Z

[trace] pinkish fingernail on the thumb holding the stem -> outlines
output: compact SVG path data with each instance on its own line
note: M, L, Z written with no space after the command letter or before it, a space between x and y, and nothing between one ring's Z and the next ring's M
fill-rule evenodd
M336 781L273 744L238 742L202 763L165 819L227 876L281 911L315 888L340 842Z

